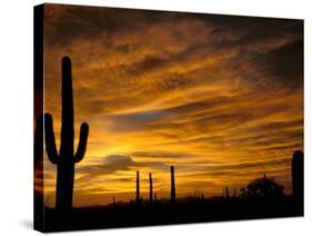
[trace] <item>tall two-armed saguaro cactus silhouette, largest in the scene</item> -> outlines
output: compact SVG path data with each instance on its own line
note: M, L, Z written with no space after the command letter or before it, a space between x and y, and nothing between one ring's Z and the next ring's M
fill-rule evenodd
M82 160L89 134L89 125L83 122L80 127L80 139L76 154L73 153L73 98L71 79L71 60L62 58L62 127L60 153L58 154L53 119L50 114L44 115L46 148L49 160L57 165L57 199L56 207L61 212L71 209L74 180L74 164Z

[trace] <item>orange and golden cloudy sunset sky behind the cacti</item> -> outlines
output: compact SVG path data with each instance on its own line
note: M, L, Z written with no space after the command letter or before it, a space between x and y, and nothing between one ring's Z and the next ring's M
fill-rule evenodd
M72 60L73 203L220 195L274 177L291 193L290 160L303 149L303 21L46 4L44 112L61 130L61 58ZM56 166L44 151L44 196Z

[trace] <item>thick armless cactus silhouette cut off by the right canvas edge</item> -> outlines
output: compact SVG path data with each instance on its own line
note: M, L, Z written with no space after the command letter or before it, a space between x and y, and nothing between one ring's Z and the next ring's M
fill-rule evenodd
M303 153L296 150L292 157L292 194L303 201Z

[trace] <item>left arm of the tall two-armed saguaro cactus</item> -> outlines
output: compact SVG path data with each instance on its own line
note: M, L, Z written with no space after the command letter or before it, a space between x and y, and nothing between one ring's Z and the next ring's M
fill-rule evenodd
M44 134L48 158L52 164L58 164L59 155L56 145L53 119L50 114L44 114Z

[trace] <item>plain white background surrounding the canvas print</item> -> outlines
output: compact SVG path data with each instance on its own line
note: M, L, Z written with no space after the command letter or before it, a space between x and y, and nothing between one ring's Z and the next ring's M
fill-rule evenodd
M64 233L64 235L309 235L311 225L312 4L309 0L62 0L76 4L180 10L304 19L305 217ZM310 2L310 3L309 3ZM8 0L0 7L0 235L32 230L32 7ZM310 14L310 16L309 16ZM310 67L309 67L310 66ZM311 233L310 233L311 235Z

